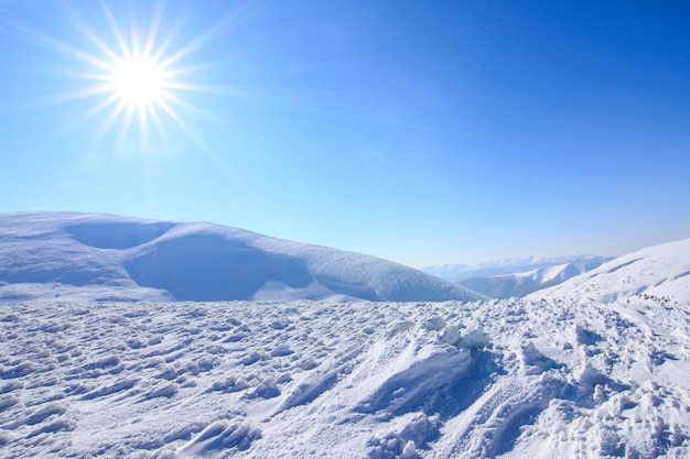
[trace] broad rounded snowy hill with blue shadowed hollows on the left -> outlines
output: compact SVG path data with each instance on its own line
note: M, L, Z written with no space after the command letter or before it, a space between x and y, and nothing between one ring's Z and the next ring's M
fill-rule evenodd
M410 267L211 223L0 215L0 299L473 300Z

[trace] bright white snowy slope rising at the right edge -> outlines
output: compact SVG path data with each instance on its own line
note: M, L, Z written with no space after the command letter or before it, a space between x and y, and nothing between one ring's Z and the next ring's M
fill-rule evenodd
M530 298L690 304L690 239L628 253Z

